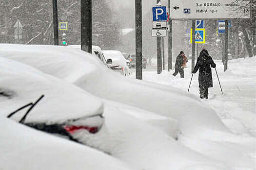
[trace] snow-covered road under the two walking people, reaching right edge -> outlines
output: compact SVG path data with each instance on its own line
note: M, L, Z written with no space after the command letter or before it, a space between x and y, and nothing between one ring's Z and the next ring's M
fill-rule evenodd
M214 87L209 89L209 99L202 101L216 110L220 119L232 132L256 136L256 59L231 60L226 72L221 61L215 62L224 97L220 91L216 71L212 69ZM179 74L173 77L174 70L171 72L164 70L157 75L155 63L156 61L153 62L153 66L143 69L143 80L188 90L191 79L191 60L187 64L188 67L184 69L185 79L180 79ZM135 77L135 69L133 71L132 76ZM199 97L198 73L193 76L189 93Z

